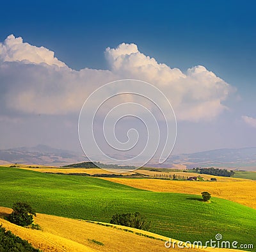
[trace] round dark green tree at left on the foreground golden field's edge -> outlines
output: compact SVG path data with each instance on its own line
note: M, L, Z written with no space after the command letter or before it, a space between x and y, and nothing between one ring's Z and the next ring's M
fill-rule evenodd
M33 223L33 216L36 216L35 210L24 202L13 204L13 212L8 216L8 221L19 226L29 226Z

